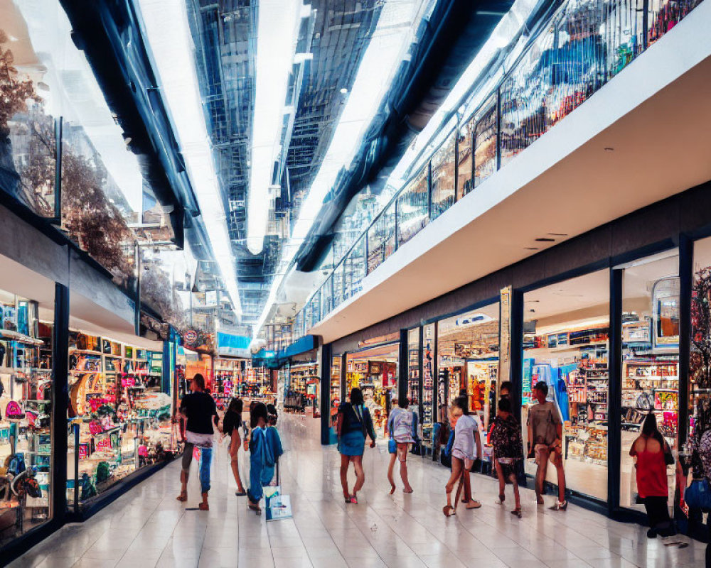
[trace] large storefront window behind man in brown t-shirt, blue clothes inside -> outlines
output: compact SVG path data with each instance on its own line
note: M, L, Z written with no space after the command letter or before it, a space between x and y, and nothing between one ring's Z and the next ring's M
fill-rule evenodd
M609 271L546 286L524 296L522 427L528 442L533 387L548 386L563 422L567 488L607 499ZM629 447L627 449L629 451ZM525 471L535 475L526 460ZM549 463L547 481L557 483Z

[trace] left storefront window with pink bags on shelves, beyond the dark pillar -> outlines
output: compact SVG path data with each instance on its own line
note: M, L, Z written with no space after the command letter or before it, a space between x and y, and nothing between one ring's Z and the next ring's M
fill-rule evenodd
M159 351L70 332L67 477L75 503L161 461L171 449L172 401L162 392L161 358Z

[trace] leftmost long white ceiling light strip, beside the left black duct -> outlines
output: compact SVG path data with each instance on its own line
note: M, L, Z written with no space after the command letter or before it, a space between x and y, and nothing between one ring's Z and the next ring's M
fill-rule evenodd
M222 192L205 125L193 39L184 0L137 0L144 36L170 109L176 136L223 283L238 315L242 313Z

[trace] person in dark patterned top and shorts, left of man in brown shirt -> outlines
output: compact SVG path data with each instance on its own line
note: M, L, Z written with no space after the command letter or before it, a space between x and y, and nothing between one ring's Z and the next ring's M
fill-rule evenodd
M498 401L498 412L493 419L491 428L491 445L496 456L496 476L498 477L498 499L503 503L506 499L506 481L513 485L515 508L512 515L521 518L521 498L518 493L516 466L523 460L523 441L518 420L511 414L511 401L501 398Z

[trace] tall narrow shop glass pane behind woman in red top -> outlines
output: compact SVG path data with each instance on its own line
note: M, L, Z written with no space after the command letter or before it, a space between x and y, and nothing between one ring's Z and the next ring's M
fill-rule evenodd
M622 446L620 505L644 510L629 451L648 413L669 446L678 449L679 256L636 261L622 280ZM670 494L675 469L669 468Z

